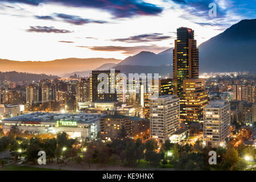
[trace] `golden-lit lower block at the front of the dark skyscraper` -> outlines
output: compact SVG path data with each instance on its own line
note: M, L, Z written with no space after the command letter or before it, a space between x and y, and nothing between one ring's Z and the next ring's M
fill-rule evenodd
M185 93L183 111L180 118L185 121L203 121L203 110L208 104L208 92L205 91L204 78L191 78L183 81L183 92Z

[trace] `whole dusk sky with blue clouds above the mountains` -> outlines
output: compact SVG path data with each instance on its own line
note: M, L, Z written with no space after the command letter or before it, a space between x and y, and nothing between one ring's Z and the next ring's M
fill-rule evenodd
M216 3L217 16L208 15ZM197 46L242 19L256 0L0 1L0 59L125 59L174 47L176 29L195 30Z

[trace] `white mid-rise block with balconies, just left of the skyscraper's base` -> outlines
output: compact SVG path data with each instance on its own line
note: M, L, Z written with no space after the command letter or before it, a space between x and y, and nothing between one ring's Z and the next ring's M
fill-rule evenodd
M164 95L150 101L150 135L159 144L179 130L180 99Z

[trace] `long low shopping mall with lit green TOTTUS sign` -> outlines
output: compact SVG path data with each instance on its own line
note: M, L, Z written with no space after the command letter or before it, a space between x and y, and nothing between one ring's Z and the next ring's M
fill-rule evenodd
M31 113L12 118L2 119L0 123L4 133L10 131L11 126L18 126L22 132L30 133L67 133L71 138L94 139L100 125L100 118L105 114L80 113Z

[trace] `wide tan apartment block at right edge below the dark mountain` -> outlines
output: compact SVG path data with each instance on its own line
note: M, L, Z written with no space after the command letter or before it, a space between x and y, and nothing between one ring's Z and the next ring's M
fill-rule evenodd
M233 98L236 101L255 102L255 86L254 84L238 84L233 85Z

